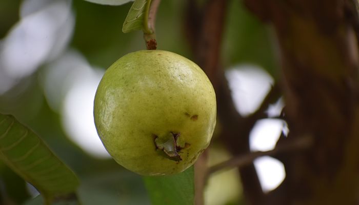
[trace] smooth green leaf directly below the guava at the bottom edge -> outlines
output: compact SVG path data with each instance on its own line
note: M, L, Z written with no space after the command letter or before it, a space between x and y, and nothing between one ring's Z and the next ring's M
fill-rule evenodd
M143 177L152 205L190 205L194 203L193 166L170 176Z

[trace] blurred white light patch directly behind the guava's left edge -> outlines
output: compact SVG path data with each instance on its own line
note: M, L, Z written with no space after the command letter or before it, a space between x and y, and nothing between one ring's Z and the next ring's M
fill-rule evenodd
M76 50L64 52L41 73L45 97L54 111L61 112L67 135L95 157L110 157L93 121L93 99L103 74Z

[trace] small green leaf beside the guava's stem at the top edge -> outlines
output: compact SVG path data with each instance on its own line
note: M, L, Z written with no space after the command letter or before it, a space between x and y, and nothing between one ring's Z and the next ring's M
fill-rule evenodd
M122 32L128 33L135 30L144 29L145 33L151 33L148 29L147 18L151 0L135 0L128 11Z

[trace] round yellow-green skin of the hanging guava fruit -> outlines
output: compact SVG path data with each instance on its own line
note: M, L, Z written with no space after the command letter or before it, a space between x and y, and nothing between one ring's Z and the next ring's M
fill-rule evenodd
M119 165L141 175L175 174L193 165L210 143L215 93L191 60L169 51L136 51L107 69L96 91L94 120ZM161 145L167 139L167 145L177 143L174 157Z

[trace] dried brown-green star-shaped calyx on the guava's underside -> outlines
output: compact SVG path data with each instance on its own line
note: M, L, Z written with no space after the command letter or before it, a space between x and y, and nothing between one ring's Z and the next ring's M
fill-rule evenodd
M165 154L165 157L174 160L182 161L180 151L184 148L189 147L190 145L182 140L181 133L169 132L163 136L155 135L154 144L156 149L160 150L162 154Z

